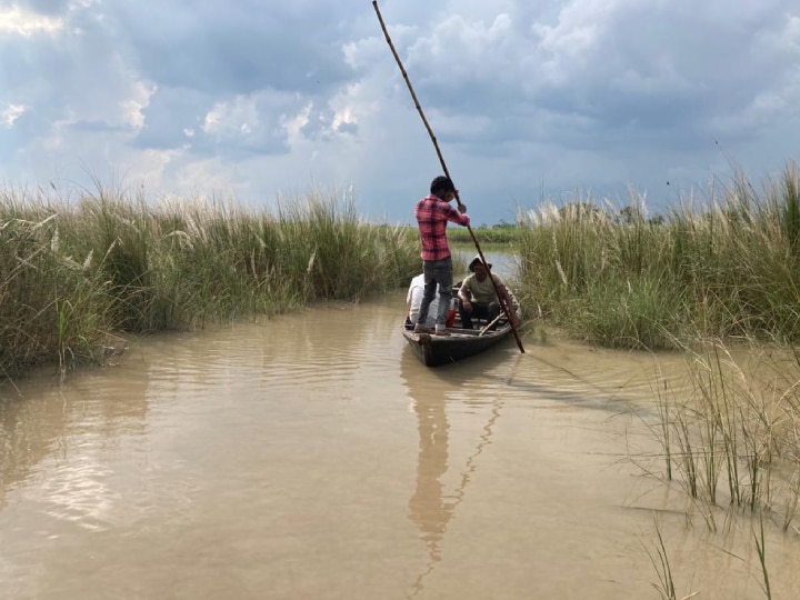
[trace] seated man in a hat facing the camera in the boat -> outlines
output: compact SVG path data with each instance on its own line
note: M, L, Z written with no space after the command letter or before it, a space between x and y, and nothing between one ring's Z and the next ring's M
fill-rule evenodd
M513 300L502 280L494 273L491 273L494 283L489 279L491 263L487 269L487 266L481 261L480 254L478 254L472 259L472 262L469 263L469 270L471 274L461 282L461 288L458 292L461 327L463 329L472 329L473 317L486 319L489 323L494 321L500 316L500 312L502 312L502 307L498 300L498 292L509 309L511 322L514 326L519 324ZM497 321L491 326L491 330L493 331L496 328Z

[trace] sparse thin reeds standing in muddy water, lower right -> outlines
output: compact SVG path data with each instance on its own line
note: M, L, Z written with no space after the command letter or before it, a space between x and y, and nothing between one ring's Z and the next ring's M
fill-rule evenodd
M789 530L800 498L797 357L768 347L734 354L720 340L688 356L690 392L659 391L651 426L664 479L683 486L711 530L718 509L769 513Z

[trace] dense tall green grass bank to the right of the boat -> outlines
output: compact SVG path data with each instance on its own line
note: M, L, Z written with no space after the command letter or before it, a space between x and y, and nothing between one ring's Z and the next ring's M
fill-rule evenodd
M800 171L760 194L741 176L699 209L644 218L591 203L521 216L521 298L572 336L628 348L800 339Z

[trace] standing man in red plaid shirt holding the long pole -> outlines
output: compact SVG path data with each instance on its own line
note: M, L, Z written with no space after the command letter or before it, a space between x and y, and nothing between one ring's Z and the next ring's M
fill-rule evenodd
M467 207L459 204L458 211L450 206L458 190L453 182L439 176L431 181L430 194L417 202L414 216L419 223L420 240L422 242L422 272L424 274L424 293L420 304L416 333L434 333L449 336L447 330L447 311L452 299L452 258L447 240L447 223L452 221L460 226L469 226ZM436 329L431 331L426 327L428 309L439 287L439 308L437 311Z

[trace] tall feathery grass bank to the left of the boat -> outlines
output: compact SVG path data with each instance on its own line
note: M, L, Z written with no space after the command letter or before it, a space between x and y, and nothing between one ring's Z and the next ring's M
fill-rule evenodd
M311 193L277 214L177 199L0 191L0 377L99 359L124 332L358 300L419 270L417 236Z

